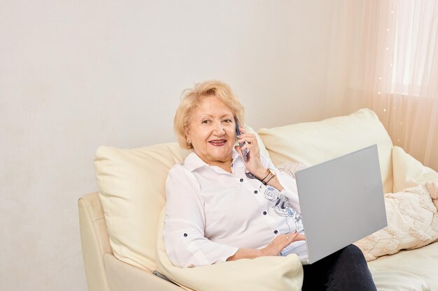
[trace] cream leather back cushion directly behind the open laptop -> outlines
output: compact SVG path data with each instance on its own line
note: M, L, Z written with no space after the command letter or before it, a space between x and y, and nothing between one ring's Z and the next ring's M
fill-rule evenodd
M258 130L274 164L297 162L306 166L377 144L383 189L393 192L393 143L372 110L323 121Z

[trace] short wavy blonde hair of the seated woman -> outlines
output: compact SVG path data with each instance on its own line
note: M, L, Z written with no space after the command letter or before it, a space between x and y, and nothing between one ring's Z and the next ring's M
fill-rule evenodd
M209 80L202 83L197 83L192 89L185 89L181 94L181 103L176 110L174 117L174 130L178 142L184 149L193 149L192 144L187 140L186 133L192 112L201 105L202 100L206 96L216 96L227 105L234 117L237 118L241 126L243 126L243 105L234 95L228 84Z

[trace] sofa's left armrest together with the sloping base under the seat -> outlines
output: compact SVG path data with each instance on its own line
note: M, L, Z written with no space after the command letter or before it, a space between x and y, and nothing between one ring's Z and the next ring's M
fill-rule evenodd
M80 241L82 244L88 291L181 291L149 271L115 258L106 229L99 193L78 200Z

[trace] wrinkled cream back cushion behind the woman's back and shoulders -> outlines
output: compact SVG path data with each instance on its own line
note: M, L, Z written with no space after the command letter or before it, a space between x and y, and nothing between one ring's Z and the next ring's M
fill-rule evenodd
M250 126L245 129L255 133ZM266 154L258 135L257 139L260 151ZM115 258L141 269L156 269L155 236L166 200L167 173L187 155L177 143L97 149L94 168Z

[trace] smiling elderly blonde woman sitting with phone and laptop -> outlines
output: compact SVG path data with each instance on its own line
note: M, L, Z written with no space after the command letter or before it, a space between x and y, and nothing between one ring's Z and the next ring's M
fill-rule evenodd
M174 127L181 146L192 152L169 171L163 233L176 266L306 257L295 179L262 156L255 135L237 121L243 121L243 106L227 84L207 81L183 94ZM302 290L376 287L362 252L347 246L304 266Z

